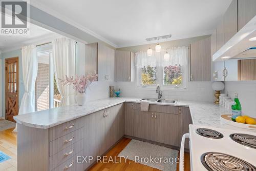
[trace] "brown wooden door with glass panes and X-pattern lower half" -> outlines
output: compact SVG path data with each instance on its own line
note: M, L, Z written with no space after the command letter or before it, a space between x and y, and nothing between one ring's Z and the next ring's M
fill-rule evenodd
M15 122L14 116L18 115L18 58L5 60L5 118Z

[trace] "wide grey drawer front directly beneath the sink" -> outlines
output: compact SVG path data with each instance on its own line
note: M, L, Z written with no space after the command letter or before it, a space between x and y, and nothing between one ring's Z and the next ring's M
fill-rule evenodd
M150 105L148 111L160 112L160 113L172 113L177 114L179 113L178 106L165 106L165 105Z

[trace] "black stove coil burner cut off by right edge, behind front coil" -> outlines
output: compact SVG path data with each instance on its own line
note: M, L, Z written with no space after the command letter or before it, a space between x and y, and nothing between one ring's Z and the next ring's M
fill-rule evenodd
M239 144L256 149L256 136L249 134L231 134L229 137Z

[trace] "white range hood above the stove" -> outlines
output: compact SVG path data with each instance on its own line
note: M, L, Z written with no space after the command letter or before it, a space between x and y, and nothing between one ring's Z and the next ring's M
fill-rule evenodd
M252 37L256 37L256 16L231 37L231 39L214 55L212 55L212 61L225 61L230 58L237 59L238 55L240 56L239 58L255 57L256 50L254 47L256 47L256 41L249 41ZM229 58L225 58L226 56Z

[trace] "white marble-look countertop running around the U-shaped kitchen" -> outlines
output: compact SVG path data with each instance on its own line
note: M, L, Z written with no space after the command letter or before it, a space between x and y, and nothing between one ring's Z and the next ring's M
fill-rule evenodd
M25 126L48 129L120 103L139 103L138 100L140 100L140 98L101 99L87 102L83 106L72 105L18 115L15 116L14 119L17 123ZM151 104L189 107L193 124L226 127L226 125L223 125L220 121L220 116L225 110L213 103L178 100L177 104L159 104L156 102L152 102Z

